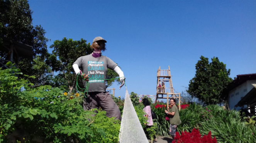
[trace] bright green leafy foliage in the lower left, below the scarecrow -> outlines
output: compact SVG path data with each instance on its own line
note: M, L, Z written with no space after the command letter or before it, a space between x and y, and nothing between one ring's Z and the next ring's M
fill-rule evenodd
M19 71L0 70L0 142L118 142L119 120L106 117L105 111L91 116L94 110L83 110L80 93L51 86L31 88L28 80L17 79Z

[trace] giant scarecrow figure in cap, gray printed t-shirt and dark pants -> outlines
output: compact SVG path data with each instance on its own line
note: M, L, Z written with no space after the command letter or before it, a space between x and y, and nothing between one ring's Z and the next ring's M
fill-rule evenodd
M107 43L107 41L102 37L94 38L91 45L91 48L93 48L93 53L78 58L76 62L73 63L73 68L77 75L80 74L79 67L82 68L84 73L83 78L85 79L83 80L83 85L85 88L86 84L89 83L88 94L85 95L86 98L84 98L83 102L83 109L91 110L94 108L99 109L99 107L101 107L102 110L106 111L107 117L115 117L117 120L121 121L119 107L114 102L109 92L106 92L104 79L107 76L108 68L110 68L111 70L115 71L119 77L121 77L121 88L124 85L124 73L110 58L101 55L101 52L106 50L105 43ZM97 113L96 110L95 113Z

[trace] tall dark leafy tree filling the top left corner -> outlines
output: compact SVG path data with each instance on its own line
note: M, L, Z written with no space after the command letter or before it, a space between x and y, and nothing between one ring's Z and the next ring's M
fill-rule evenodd
M41 25L32 25L32 11L27 0L0 0L0 22L0 36L32 47L34 60L22 57L19 59L14 57L14 60L18 60L17 64L22 73L37 76L36 80L31 81L32 83L42 84L44 75L49 71L49 67L45 67L45 63L42 63L49 55L46 45L48 39L44 36L46 32ZM6 57L7 52L1 51L0 58ZM20 76L23 77L23 75Z

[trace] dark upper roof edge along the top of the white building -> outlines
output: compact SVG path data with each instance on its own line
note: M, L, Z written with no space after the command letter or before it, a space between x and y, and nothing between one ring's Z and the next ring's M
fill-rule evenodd
M236 88L237 86L241 85L242 83L246 82L247 80L256 80L256 73L245 74L245 75L237 75L228 86L228 91Z

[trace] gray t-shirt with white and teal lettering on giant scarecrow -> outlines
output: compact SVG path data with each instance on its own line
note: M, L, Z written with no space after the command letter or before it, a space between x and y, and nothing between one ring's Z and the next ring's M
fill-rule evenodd
M78 67L81 67L83 73L88 74L90 79L88 92L105 92L106 84L105 78L107 76L108 68L110 70L114 70L117 66L115 62L113 62L110 58L106 56L100 56L98 58L92 57L92 54L79 57L75 63ZM86 81L83 80L83 85L86 85Z

